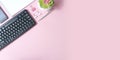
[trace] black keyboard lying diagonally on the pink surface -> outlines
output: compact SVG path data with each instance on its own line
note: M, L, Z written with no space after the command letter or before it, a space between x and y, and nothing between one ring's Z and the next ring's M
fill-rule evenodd
M36 24L27 10L10 19L0 27L0 50L19 38Z

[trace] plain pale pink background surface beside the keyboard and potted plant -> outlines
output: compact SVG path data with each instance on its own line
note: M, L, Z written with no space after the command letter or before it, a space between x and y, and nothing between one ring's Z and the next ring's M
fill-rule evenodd
M119 0L55 0L55 10L0 60L120 60Z

